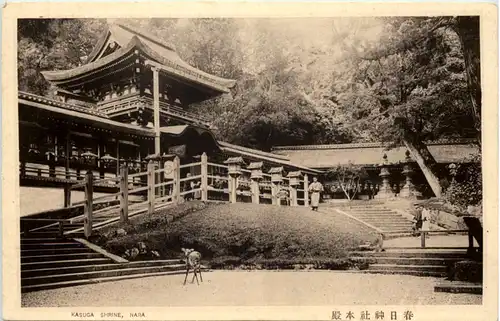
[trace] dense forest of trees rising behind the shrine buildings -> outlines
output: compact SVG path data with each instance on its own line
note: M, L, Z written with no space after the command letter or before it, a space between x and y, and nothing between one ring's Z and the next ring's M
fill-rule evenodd
M479 18L124 19L174 45L231 94L191 106L221 140L404 144L440 195L426 140L481 137ZM105 20L20 20L19 89L82 64ZM433 184L434 182L434 184Z

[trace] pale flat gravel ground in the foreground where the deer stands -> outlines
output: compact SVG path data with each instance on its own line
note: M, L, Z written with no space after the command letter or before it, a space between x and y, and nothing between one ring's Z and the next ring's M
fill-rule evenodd
M214 271L25 293L23 307L481 304L481 295L434 292L441 279L333 271ZM190 280L190 279L189 279Z

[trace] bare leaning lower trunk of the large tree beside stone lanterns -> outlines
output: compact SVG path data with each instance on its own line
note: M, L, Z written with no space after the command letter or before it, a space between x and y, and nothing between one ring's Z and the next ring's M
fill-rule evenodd
M422 142L416 142L409 139L404 139L403 142L420 167L434 195L436 197L441 197L441 184L439 183L438 175L436 175L433 170L437 163L427 146Z

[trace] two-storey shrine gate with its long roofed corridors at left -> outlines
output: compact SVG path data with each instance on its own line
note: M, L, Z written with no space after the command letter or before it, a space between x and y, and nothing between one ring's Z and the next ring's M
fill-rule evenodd
M60 188L89 170L105 178L123 164L139 172L148 159L178 156L182 164L202 153L321 172L218 141L210 121L186 107L230 93L236 81L190 66L172 46L126 24L108 23L83 65L42 74L55 98L18 93L21 186Z

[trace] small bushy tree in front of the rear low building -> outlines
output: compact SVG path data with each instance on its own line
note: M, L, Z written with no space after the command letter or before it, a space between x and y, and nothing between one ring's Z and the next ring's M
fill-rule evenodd
M328 170L327 176L337 180L340 188L349 201L353 200L359 189L359 181L368 177L363 166L349 162L346 165L337 165Z

